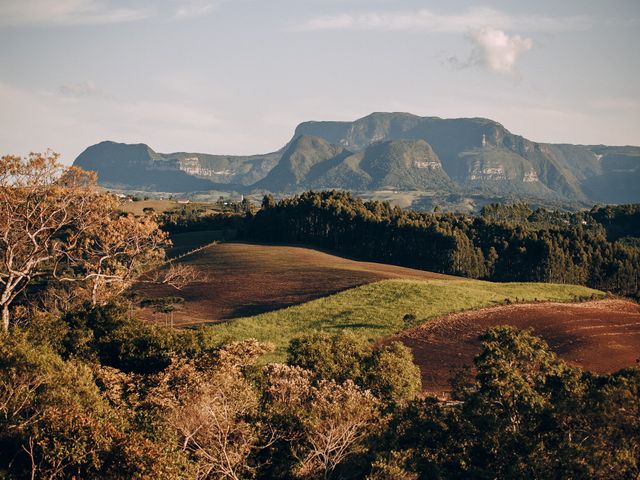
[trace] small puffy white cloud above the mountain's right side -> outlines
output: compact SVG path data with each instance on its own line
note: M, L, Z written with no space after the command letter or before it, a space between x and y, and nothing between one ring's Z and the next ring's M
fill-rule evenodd
M508 35L491 27L472 30L467 38L474 46L467 63L501 75L514 75L517 60L533 48L530 38Z

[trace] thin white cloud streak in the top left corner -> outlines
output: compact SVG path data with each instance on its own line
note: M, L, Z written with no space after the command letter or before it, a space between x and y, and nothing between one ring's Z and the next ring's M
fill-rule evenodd
M150 15L148 9L114 7L104 0L0 0L0 26L100 25Z

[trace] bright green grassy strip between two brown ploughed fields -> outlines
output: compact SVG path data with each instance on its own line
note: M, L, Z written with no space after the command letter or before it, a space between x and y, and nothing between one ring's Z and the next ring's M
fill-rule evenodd
M491 283L473 280L383 280L301 305L207 327L215 338L256 338L276 351L265 361L282 361L289 341L313 331L350 330L367 339L399 331L449 313L516 301L569 302L604 294L576 285ZM415 320L405 321L405 315Z

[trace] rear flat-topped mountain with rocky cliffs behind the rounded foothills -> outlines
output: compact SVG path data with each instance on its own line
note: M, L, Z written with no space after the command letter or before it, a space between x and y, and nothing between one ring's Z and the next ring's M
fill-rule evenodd
M380 141L421 139L463 188L504 193L522 187L524 193L535 191L543 197L571 201L640 201L640 186L634 188L630 181L623 182L622 194L611 189L616 169L604 167L603 162L608 155L610 165L626 162L627 173L638 175L637 147L628 147L622 160L613 153L620 152L616 147L532 142L488 119L407 113L373 113L354 122L305 122L296 134L315 135L354 151Z

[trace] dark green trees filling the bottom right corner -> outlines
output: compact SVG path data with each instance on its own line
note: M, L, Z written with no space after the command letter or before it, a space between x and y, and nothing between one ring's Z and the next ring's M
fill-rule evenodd
M511 327L482 339L476 381L461 401L422 400L398 412L383 463L401 452L420 478L637 477L638 369L595 376Z

